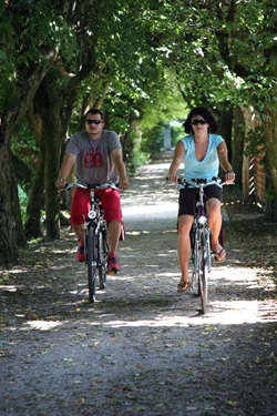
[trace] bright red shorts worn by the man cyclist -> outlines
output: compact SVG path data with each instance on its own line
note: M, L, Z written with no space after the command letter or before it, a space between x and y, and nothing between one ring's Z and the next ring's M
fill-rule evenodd
M101 203L104 210L104 217L106 223L111 220L122 221L120 191L117 190L99 190L95 191L101 196ZM81 225L84 219L88 219L90 210L90 190L82 190L78 187L73 194L71 203L70 221L71 225Z

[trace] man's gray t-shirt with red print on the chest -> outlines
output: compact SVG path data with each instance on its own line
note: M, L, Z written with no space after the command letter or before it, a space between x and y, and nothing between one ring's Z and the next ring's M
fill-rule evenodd
M115 182L117 175L111 153L121 148L120 138L114 131L102 130L96 140L89 139L86 131L75 133L66 146L66 153L76 155L78 182L83 185Z

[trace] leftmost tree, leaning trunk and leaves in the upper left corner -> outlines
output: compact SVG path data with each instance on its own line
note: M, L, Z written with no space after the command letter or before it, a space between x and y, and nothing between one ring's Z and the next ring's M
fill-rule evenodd
M11 164L10 138L22 120L49 68L57 59L53 42L44 42L48 2L40 3L40 12L27 13L24 1L1 3L1 148L0 148L0 265L13 264L18 246L24 244L24 234L19 209L17 182ZM50 8L51 9L51 8ZM49 12L51 10L49 9ZM39 14L39 16L38 16ZM27 17L28 16L28 17ZM40 26L34 31L33 22ZM37 19L37 20L35 20ZM31 22L31 23L30 23ZM32 31L28 31L28 27ZM34 32L37 37L34 37ZM11 73L13 77L11 77Z

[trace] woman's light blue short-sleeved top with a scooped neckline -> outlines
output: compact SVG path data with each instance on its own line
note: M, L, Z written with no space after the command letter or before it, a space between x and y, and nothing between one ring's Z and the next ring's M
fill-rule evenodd
M192 134L182 139L185 146L184 154L184 175L183 179L191 181L193 179L206 179L207 182L214 176L218 176L219 160L217 146L224 141L223 136L208 134L208 146L205 158L198 161L195 156L195 143Z

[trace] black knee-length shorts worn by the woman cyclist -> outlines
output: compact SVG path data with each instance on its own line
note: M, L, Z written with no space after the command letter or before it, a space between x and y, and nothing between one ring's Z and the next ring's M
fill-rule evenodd
M216 197L222 202L223 190L217 185L208 185L204 187L204 201L211 197ZM196 211L196 203L198 202L198 190L185 187L179 190L178 196L178 216L194 215Z

